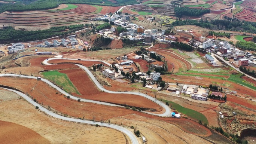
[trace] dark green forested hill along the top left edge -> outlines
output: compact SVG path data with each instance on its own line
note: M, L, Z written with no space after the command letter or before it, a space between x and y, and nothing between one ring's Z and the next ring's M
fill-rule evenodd
M10 0L2 0L8 1ZM113 3L109 0L15 0L15 3L0 3L0 13L4 11L28 11L28 10L44 10L58 7L63 3L80 3L95 4L103 6L123 6L130 4L139 4L136 0L115 0Z

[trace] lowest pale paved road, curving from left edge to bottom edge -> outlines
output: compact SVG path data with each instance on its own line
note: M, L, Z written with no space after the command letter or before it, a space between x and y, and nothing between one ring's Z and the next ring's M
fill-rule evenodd
M6 88L3 88L3 89L6 89ZM118 126L118 125L113 125L113 124L110 124L110 123L93 122L93 121L89 121L89 120L80 120L80 119L74 119L74 118L70 118L70 117L60 116L60 115L58 115L58 114L56 114L52 111L47 110L46 108L42 107L41 105L37 104L36 102L33 101L33 99L31 99L30 97L28 97L27 95L25 95L21 92L18 92L18 91L12 90L12 89L6 89L6 90L15 92L16 94L22 96L24 99L26 99L32 105L34 105L35 107L36 106L39 107L39 110L45 112L49 116L52 116L52 117L55 117L55 118L61 119L61 120L67 120L67 121L70 121L70 122L86 123L86 124L89 124L89 125L98 124L99 126L105 126L105 127L108 127L108 128L113 128L113 129L116 129L116 130L121 131L124 134L126 134L131 139L132 144L139 144L136 136L126 128L123 128L123 127Z

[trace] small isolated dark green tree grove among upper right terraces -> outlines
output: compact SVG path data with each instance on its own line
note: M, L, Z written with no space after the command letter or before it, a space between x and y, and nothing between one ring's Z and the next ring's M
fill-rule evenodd
M190 9L188 7L175 7L174 13L177 17L186 16L201 16L205 13L210 13L210 9Z

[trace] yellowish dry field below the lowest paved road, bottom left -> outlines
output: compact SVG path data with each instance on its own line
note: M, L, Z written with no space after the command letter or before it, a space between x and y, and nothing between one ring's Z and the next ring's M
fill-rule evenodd
M0 89L0 120L37 132L51 144L129 144L119 131L58 120L43 114L18 95Z

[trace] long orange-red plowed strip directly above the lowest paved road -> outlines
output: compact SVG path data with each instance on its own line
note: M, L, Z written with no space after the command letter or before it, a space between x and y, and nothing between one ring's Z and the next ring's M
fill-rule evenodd
M34 79L0 77L0 83L7 86L15 86L15 88L23 92L28 92L28 94L33 96L33 98L36 98L39 103L43 103L43 105L46 105L46 107L49 106L54 110L60 111L62 114L68 114L68 116L84 117L85 119L93 119L93 117L95 117L95 120L100 121L133 113L174 124L181 128L183 131L191 134L200 136L211 135L209 129L189 119L174 119L170 117L164 118L141 113L138 111L128 110L126 108L73 101L71 99L65 98L63 95L55 94L56 90L54 88L51 88L49 85L43 83L42 81L37 81ZM134 120L138 121L138 119Z

